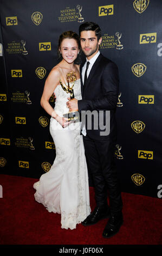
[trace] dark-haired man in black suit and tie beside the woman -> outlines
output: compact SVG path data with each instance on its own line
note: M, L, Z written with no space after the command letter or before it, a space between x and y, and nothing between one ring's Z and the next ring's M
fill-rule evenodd
M121 192L114 162L118 68L99 51L102 38L101 29L96 23L83 23L79 34L81 48L86 55L86 62L80 66L82 100L73 99L67 102L67 106L69 110L92 113L90 125L89 115L87 119L82 115L82 134L96 200L94 211L82 224L92 225L109 217L102 235L111 237L119 231L123 222ZM98 113L97 117L94 112Z

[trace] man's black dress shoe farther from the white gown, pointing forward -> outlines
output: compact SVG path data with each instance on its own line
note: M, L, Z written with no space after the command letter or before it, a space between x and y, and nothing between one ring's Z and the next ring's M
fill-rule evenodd
M111 216L106 224L105 229L103 230L102 236L105 238L112 237L118 233L122 223L123 217L121 212L118 215Z

